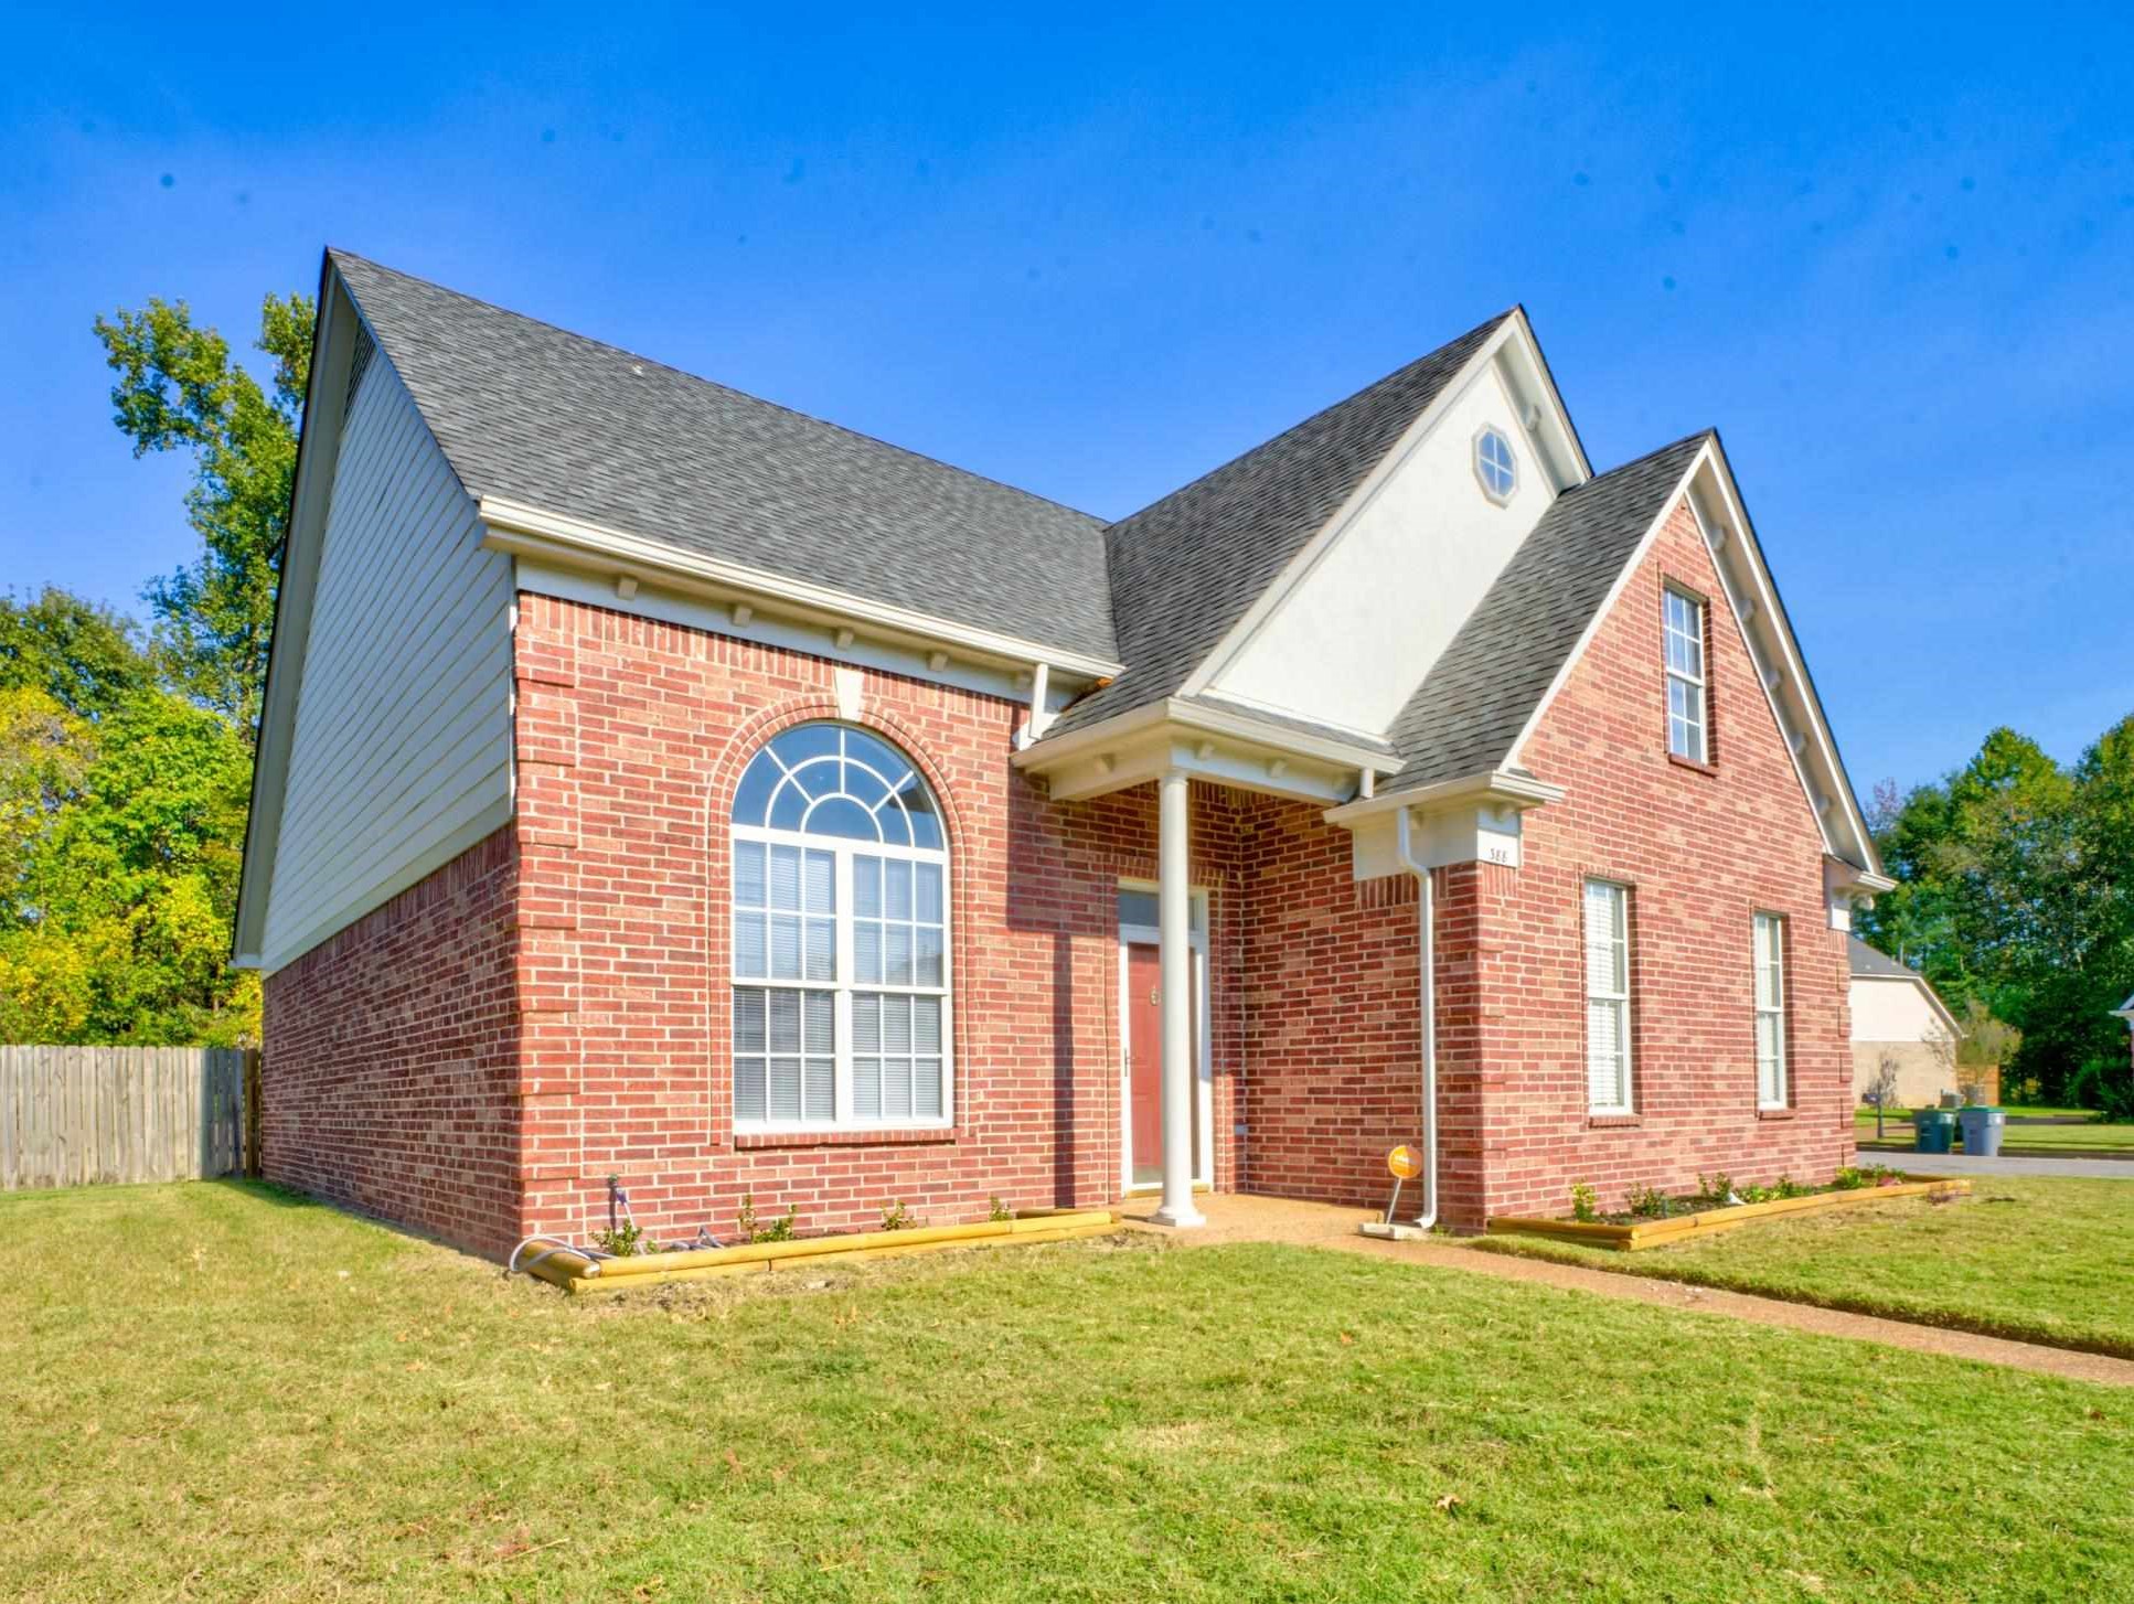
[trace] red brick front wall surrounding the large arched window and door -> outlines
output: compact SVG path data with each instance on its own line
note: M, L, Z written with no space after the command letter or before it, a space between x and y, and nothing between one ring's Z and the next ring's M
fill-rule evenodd
M950 1133L732 1130L726 819L747 759L837 717L832 665L521 595L519 960L525 1229L604 1220L621 1175L655 1235L800 1207L802 1231L930 1222L1118 1194L1116 885L1152 879L1154 789L1058 806L1012 766L1022 704L862 672L858 723L941 800L954 907ZM1212 892L1216 1184L1236 1173L1236 802L1195 787Z

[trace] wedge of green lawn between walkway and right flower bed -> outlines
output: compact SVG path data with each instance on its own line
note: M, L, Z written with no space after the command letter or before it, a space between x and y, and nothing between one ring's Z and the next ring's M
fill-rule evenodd
M2125 1182L1989 1175L1955 1203L1904 1197L1635 1254L1532 1237L1483 1244L2134 1359L2134 1171Z

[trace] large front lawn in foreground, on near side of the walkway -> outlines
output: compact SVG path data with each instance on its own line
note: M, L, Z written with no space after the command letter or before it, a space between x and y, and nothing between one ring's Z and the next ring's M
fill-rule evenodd
M572 1303L258 1188L0 1226L13 1600L2134 1595L2134 1393L1577 1293L1065 1244Z

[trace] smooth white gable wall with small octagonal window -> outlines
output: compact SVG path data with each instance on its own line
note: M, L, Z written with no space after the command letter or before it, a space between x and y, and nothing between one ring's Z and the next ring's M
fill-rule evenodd
M1494 424L1519 463L1504 506L1475 478ZM1297 589L1210 689L1306 719L1381 732L1556 499L1496 365L1453 397Z

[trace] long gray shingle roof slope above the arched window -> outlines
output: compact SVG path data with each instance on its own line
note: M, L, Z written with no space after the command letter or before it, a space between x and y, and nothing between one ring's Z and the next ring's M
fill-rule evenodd
M331 260L472 495L1116 661L1101 518Z

